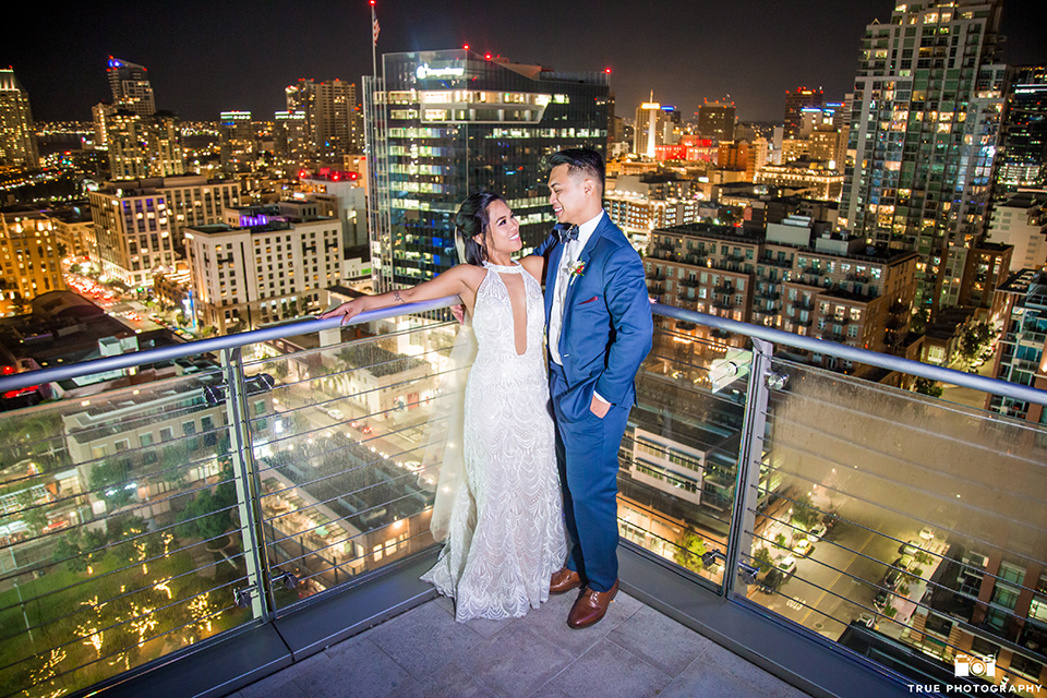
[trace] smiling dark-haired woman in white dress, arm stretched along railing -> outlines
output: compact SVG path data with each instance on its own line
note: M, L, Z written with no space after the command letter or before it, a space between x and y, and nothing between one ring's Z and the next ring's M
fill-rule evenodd
M549 599L549 579L567 555L542 349L544 260L513 261L520 225L496 194L469 196L455 224L464 264L323 317L461 299L478 344L465 392L465 478L444 549L422 579L455 600L458 621L518 617Z

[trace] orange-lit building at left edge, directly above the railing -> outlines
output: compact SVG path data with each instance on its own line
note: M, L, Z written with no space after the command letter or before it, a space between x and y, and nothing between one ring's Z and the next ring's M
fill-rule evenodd
M0 215L0 314L65 288L53 221L39 212Z

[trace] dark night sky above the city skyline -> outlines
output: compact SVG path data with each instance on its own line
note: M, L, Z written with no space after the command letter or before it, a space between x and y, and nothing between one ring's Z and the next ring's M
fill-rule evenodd
M1004 59L1047 61L1037 37L1043 0L1004 0ZM611 68L616 111L650 91L685 116L730 96L738 117L781 121L785 89L820 86L840 100L853 85L866 24L892 0L634 0L524 2L377 0L382 52L460 48L562 71ZM31 3L22 3L22 7ZM64 3L63 3L64 4ZM38 121L89 120L111 99L109 55L148 69L158 109L215 120L244 109L272 119L299 77L360 83L371 72L366 0L80 2L5 16L0 65L12 65ZM67 4L67 7L69 7ZM9 10L8 12L11 12Z

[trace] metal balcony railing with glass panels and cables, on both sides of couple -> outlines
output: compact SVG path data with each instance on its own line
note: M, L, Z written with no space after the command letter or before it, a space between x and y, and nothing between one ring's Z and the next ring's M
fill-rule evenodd
M1033 681L1047 661L1031 609L1040 598L1047 607L1047 563L1043 490L1024 483L1043 478L1047 432L790 357L1035 405L1047 393L653 310L688 332L658 330L637 376L619 452L623 538L813 641L851 651L879 638L944 664L989 643L997 681ZM263 349L339 325L308 320L0 377L7 392L215 356L212 370L4 414L0 695L89 686L433 544L422 425L454 326Z

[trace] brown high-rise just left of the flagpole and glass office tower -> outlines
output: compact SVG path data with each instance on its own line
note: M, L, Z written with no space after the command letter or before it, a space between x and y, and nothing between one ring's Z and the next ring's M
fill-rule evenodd
M342 80L299 80L285 88L288 111L304 111L312 155L340 167L341 159L361 149L361 113L356 83Z

